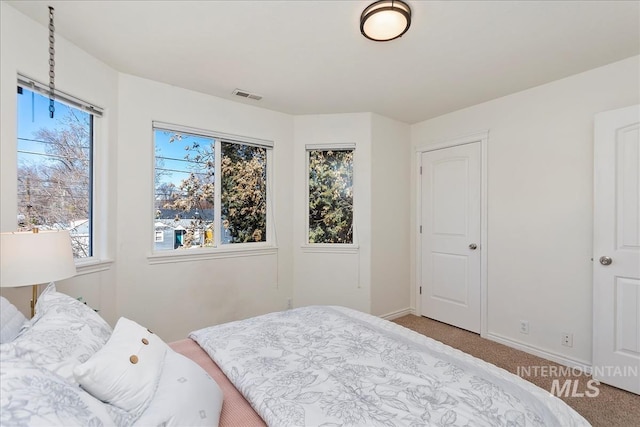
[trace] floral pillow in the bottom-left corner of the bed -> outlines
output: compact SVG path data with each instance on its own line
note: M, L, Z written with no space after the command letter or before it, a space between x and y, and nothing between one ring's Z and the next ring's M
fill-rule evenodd
M0 424L3 426L108 426L106 405L75 383L0 353Z

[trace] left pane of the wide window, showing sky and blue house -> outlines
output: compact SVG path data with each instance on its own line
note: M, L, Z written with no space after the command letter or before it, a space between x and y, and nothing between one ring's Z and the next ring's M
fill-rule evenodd
M213 246L215 141L154 130L156 251Z

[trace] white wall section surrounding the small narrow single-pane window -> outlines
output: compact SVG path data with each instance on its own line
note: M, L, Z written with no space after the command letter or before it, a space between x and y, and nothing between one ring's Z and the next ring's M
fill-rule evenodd
M369 312L371 305L371 115L326 114L294 118L294 292L295 306L343 305ZM351 253L305 249L307 144L354 143L354 240Z

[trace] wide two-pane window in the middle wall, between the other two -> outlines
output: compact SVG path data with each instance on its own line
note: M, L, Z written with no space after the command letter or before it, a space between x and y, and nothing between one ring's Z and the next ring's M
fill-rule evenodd
M272 143L160 123L154 140L155 251L269 242Z

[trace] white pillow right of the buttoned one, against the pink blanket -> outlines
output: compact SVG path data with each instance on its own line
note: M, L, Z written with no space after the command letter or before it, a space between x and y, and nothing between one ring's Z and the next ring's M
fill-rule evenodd
M217 426L222 400L200 365L169 349L155 396L134 426Z

